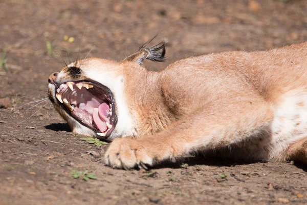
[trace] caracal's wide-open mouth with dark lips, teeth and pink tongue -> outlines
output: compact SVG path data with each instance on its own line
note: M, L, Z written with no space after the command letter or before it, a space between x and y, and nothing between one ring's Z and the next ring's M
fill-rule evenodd
M117 123L113 93L90 80L69 81L56 89L58 104L82 125L107 138Z

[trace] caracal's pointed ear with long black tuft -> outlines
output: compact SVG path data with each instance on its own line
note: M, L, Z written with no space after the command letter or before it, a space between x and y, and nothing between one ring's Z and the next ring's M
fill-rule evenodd
M140 65L143 64L143 61L145 59L157 62L163 62L166 59L165 47L167 46L167 44L165 43L165 41L163 40L162 42L160 42L155 46L145 48L148 43L150 42L145 43L138 52L129 55L123 61L134 61Z

